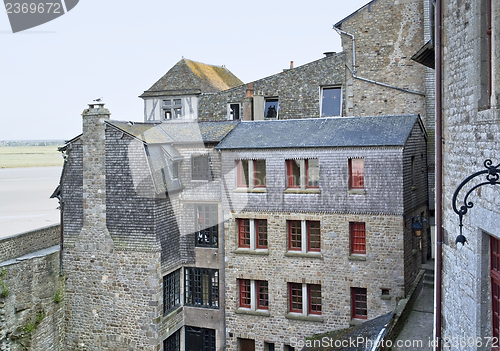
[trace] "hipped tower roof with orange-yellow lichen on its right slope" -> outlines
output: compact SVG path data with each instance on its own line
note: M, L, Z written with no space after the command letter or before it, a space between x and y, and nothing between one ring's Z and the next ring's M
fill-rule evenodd
M183 58L140 97L216 93L242 84L225 67Z

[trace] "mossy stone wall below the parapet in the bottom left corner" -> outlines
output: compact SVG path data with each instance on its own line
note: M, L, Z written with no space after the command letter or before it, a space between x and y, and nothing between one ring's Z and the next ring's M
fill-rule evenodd
M0 269L0 349L67 350L63 347L65 294L59 250L3 262Z

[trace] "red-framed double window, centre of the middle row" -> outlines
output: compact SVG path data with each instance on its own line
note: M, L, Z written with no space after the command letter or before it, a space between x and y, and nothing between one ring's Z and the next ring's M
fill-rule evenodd
M321 251L320 222L288 221L288 250L303 253Z

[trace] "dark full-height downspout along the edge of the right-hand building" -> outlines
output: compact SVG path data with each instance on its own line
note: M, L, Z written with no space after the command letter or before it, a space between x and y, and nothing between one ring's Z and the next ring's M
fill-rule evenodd
M443 269L443 72L442 72L442 3L436 0L436 282L435 282L435 314L434 332L437 341L435 350L441 350L441 303L442 303L442 269Z

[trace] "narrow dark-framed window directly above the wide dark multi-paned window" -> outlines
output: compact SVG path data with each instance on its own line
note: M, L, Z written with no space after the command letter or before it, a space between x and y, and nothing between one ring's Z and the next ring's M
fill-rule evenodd
M217 247L219 217L217 205L196 205L196 246Z

